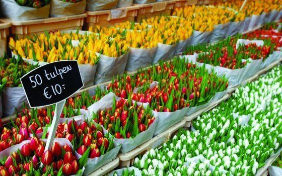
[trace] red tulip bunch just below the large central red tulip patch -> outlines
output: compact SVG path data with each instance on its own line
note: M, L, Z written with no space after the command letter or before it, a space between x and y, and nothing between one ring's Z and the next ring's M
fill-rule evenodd
M134 138L137 134L147 130L154 122L155 117L150 109L137 105L131 99L113 98L111 108L100 110L93 114L93 121L98 123L115 138Z

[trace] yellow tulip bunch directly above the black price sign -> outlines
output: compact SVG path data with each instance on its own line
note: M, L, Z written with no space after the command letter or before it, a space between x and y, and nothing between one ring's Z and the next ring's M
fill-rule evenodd
M95 65L99 60L96 53L88 51L84 45L73 47L72 38L72 35L61 35L59 32L35 35L17 41L10 38L9 47L14 54L34 61L50 63L58 60L78 60L79 64Z

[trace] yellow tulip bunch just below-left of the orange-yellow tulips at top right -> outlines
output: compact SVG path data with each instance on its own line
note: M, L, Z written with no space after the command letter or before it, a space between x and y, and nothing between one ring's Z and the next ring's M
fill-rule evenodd
M213 31L216 25L245 19L244 14L219 6L186 6L176 8L173 15L185 18L194 27L194 30L200 32Z

